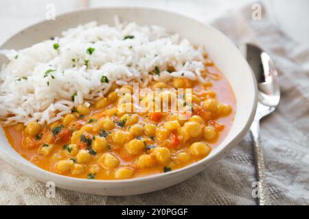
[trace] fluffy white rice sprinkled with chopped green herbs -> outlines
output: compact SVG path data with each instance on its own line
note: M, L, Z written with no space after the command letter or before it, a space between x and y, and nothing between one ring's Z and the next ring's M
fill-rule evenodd
M134 38L124 40L128 35ZM54 44L59 48L54 49ZM89 47L95 49L92 54L87 53ZM61 38L0 52L10 60L0 72L0 118L5 125L32 120L52 123L73 107L104 96L113 82L124 85L143 79L147 86L153 79L171 77L204 80L200 71L205 49L158 26L116 21L111 27L91 22L64 31ZM148 75L155 66L160 75ZM168 73L168 66L176 71ZM101 82L103 75L108 83Z

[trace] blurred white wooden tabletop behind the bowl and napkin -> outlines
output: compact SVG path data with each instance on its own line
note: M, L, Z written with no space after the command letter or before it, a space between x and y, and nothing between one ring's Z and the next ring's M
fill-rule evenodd
M274 21L291 38L309 47L309 1L261 0ZM254 0L1 0L0 43L17 31L45 19L46 6L53 3L56 14L86 7L144 6L180 12L204 22L211 22L229 10L255 3Z

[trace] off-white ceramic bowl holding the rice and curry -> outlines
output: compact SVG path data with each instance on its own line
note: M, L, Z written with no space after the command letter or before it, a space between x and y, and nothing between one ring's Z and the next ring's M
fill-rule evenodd
M27 27L12 36L2 45L1 49L23 49L52 36L60 36L61 31L89 21L113 25L115 15L119 16L120 21L135 21L140 25L161 25L171 32L179 33L194 44L206 46L209 56L227 77L236 95L236 116L225 140L205 159L185 168L120 181L76 179L42 170L12 149L2 129L0 130L1 159L39 181L54 181L56 186L68 190L109 196L142 194L167 188L196 175L206 166L214 164L218 159L227 155L249 131L257 105L257 86L251 68L240 51L220 31L179 14L148 8L80 10L58 16L55 21L43 21Z

